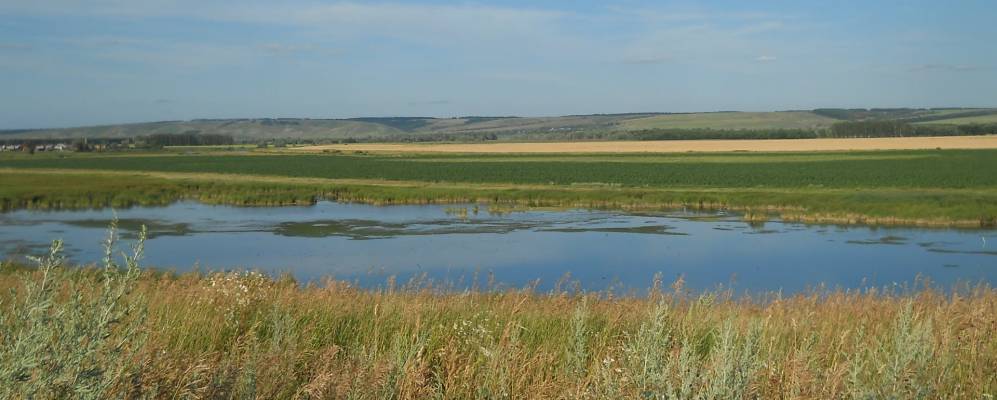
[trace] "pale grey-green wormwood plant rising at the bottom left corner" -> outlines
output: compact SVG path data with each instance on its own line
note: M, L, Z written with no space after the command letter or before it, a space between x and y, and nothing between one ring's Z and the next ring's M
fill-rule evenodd
M143 298L131 294L139 277L146 230L124 265L114 261L117 221L104 242L95 280L73 279L62 241L33 257L35 274L0 313L0 398L105 398L127 381L144 344ZM93 282L97 282L93 284Z

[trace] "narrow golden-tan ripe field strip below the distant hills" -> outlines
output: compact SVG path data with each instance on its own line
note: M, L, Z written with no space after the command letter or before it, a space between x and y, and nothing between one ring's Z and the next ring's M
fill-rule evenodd
M997 149L997 136L945 136L857 139L773 139L773 140L655 140L617 142L541 143L362 143L306 146L289 149L299 152L324 150L399 153L675 153L730 151L843 151L917 149Z

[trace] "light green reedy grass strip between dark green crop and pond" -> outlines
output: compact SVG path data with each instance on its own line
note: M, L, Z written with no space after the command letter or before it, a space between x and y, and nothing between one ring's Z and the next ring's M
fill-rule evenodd
M657 188L471 184L246 174L0 168L0 211L166 205L192 199L237 206L479 203L658 211L730 210L747 220L989 228L997 191L983 189Z

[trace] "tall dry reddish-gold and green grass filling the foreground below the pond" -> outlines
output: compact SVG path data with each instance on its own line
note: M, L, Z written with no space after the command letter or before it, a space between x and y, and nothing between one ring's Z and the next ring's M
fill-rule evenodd
M113 236L112 236L113 238ZM113 246L113 239L107 243ZM989 398L997 292L646 297L253 272L0 274L4 398Z

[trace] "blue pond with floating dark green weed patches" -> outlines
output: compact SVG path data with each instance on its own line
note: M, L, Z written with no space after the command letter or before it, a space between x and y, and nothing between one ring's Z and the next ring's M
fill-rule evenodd
M145 264L187 270L259 268L301 280L335 276L365 285L388 275L426 273L467 282L488 272L504 286L540 279L552 287L566 272L588 289L613 282L643 289L661 272L692 288L793 292L824 283L859 287L911 282L997 282L997 232L827 227L735 216L530 211L466 219L447 206L238 208L178 203L117 212L122 236L149 226ZM468 211L471 209L468 207ZM63 238L79 262L101 257L110 211L0 214L0 254L38 252ZM691 217L691 218L690 218ZM714 216L715 217L715 216ZM989 241L989 243L987 243ZM128 243L128 240L125 240Z

